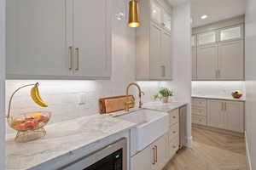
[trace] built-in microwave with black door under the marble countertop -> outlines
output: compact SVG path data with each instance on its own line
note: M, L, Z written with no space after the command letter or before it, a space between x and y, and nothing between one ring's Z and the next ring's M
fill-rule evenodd
M127 170L127 139L109 144L61 170Z

